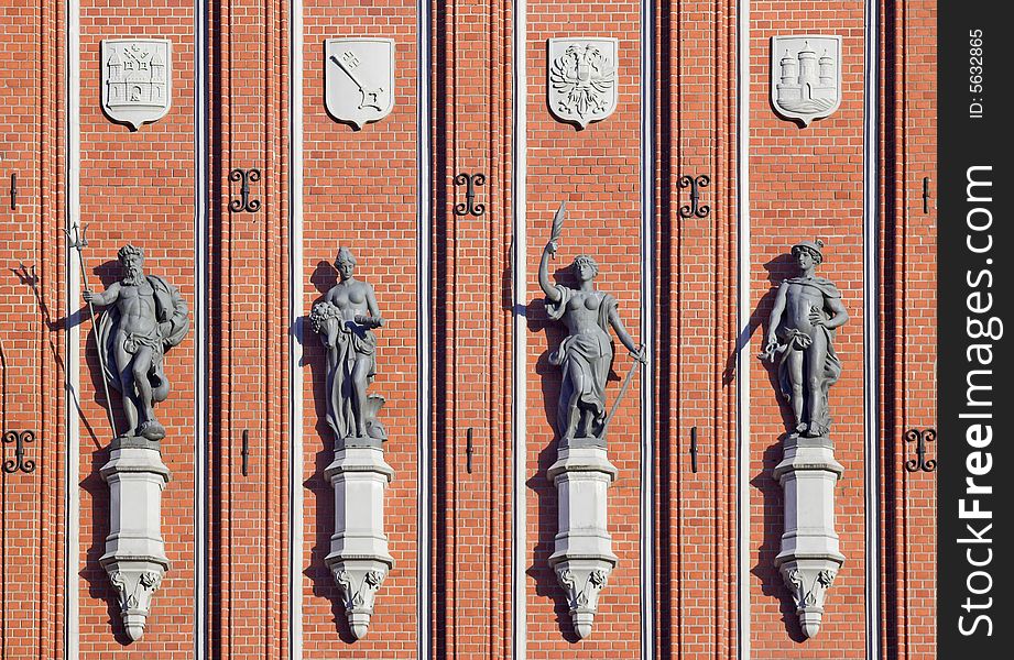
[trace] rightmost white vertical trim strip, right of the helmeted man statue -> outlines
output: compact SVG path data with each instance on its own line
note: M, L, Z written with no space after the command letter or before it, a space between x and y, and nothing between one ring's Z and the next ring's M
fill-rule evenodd
M880 660L880 2L865 1L863 37L863 463L866 660Z

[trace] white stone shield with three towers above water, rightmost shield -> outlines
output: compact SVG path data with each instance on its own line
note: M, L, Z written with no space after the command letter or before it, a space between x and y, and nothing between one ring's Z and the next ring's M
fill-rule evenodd
M841 105L841 37L819 34L771 37L771 103L804 127Z

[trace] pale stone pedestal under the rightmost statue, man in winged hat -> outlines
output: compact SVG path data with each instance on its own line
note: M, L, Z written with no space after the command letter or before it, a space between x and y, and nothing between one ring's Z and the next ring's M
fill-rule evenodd
M785 534L775 565L793 593L803 634L820 630L825 597L844 562L835 531L835 485L843 468L830 438L789 436L774 477L785 491Z

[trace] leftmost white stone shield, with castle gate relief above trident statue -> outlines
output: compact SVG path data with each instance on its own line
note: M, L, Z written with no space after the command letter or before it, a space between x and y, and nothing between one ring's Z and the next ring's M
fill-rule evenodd
M102 40L102 111L137 131L159 121L173 98L172 42L167 38Z

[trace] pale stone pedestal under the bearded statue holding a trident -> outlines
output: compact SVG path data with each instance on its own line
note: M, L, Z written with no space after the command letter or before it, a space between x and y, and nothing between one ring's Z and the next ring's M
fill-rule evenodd
M109 536L99 563L120 598L123 626L131 640L144 635L152 597L168 571L162 540L162 490L170 471L159 442L117 438L101 475L109 484Z

